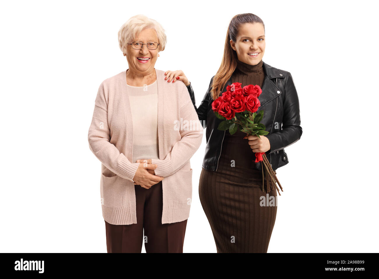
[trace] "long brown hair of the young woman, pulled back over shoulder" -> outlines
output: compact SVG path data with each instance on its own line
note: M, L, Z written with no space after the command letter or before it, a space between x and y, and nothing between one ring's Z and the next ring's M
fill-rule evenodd
M237 53L234 49L232 49L232 46L230 46L230 40L236 42L238 28L240 28L241 24L256 22L262 23L263 28L265 28L265 24L263 23L262 19L251 13L237 14L232 18L232 20L230 20L228 31L226 32L224 55L222 57L221 66L213 78L211 89L211 96L213 100L218 98L222 88L224 88L224 85L230 79L237 67Z

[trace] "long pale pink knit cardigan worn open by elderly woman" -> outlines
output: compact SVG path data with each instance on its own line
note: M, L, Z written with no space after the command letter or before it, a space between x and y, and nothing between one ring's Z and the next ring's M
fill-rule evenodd
M153 159L152 163L158 165L155 174L164 177L164 224L189 217L192 199L189 159L200 147L203 127L183 82L166 82L164 71L155 69L155 72L160 159ZM102 162L100 195L103 218L116 225L137 223L133 177L139 163L131 162L133 121L126 87L126 70L100 84L88 131L89 148Z

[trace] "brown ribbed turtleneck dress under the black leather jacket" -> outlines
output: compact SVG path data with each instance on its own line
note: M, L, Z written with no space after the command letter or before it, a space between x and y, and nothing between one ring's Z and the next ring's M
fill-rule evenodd
M262 65L262 60L257 65L238 61L232 82L241 82L242 87L262 87ZM268 197L274 196L276 201L277 193L262 192L262 171L255 169L255 153L244 136L246 133L240 130L233 135L226 131L217 171L203 168L200 174L200 202L218 253L266 253L275 224L277 202L267 204ZM263 202L262 197L268 202Z

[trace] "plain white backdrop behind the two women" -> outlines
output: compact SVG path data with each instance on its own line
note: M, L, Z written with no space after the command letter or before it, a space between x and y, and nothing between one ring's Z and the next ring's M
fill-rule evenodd
M230 19L266 27L263 61L293 76L301 139L277 170L268 252L378 252L377 15L360 1L21 1L1 8L1 252L106 252L100 161L88 128L100 83L128 68L121 25L145 14L168 42L155 68L182 69L200 104ZM179 47L180 45L180 47ZM205 131L204 131L205 132ZM183 252L216 252L191 158ZM144 247L143 247L144 252Z

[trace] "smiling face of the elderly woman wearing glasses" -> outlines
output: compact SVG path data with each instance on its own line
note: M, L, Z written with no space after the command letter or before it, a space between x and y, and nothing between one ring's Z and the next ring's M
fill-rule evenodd
M159 43L157 32L155 29L144 29L137 35L137 38L135 38L133 42L142 42L144 45L142 49L133 49L132 45L128 44L126 59L128 61L129 69L133 72L142 74L152 72L155 61L157 61L159 56L159 46L157 49L148 49L146 43Z

